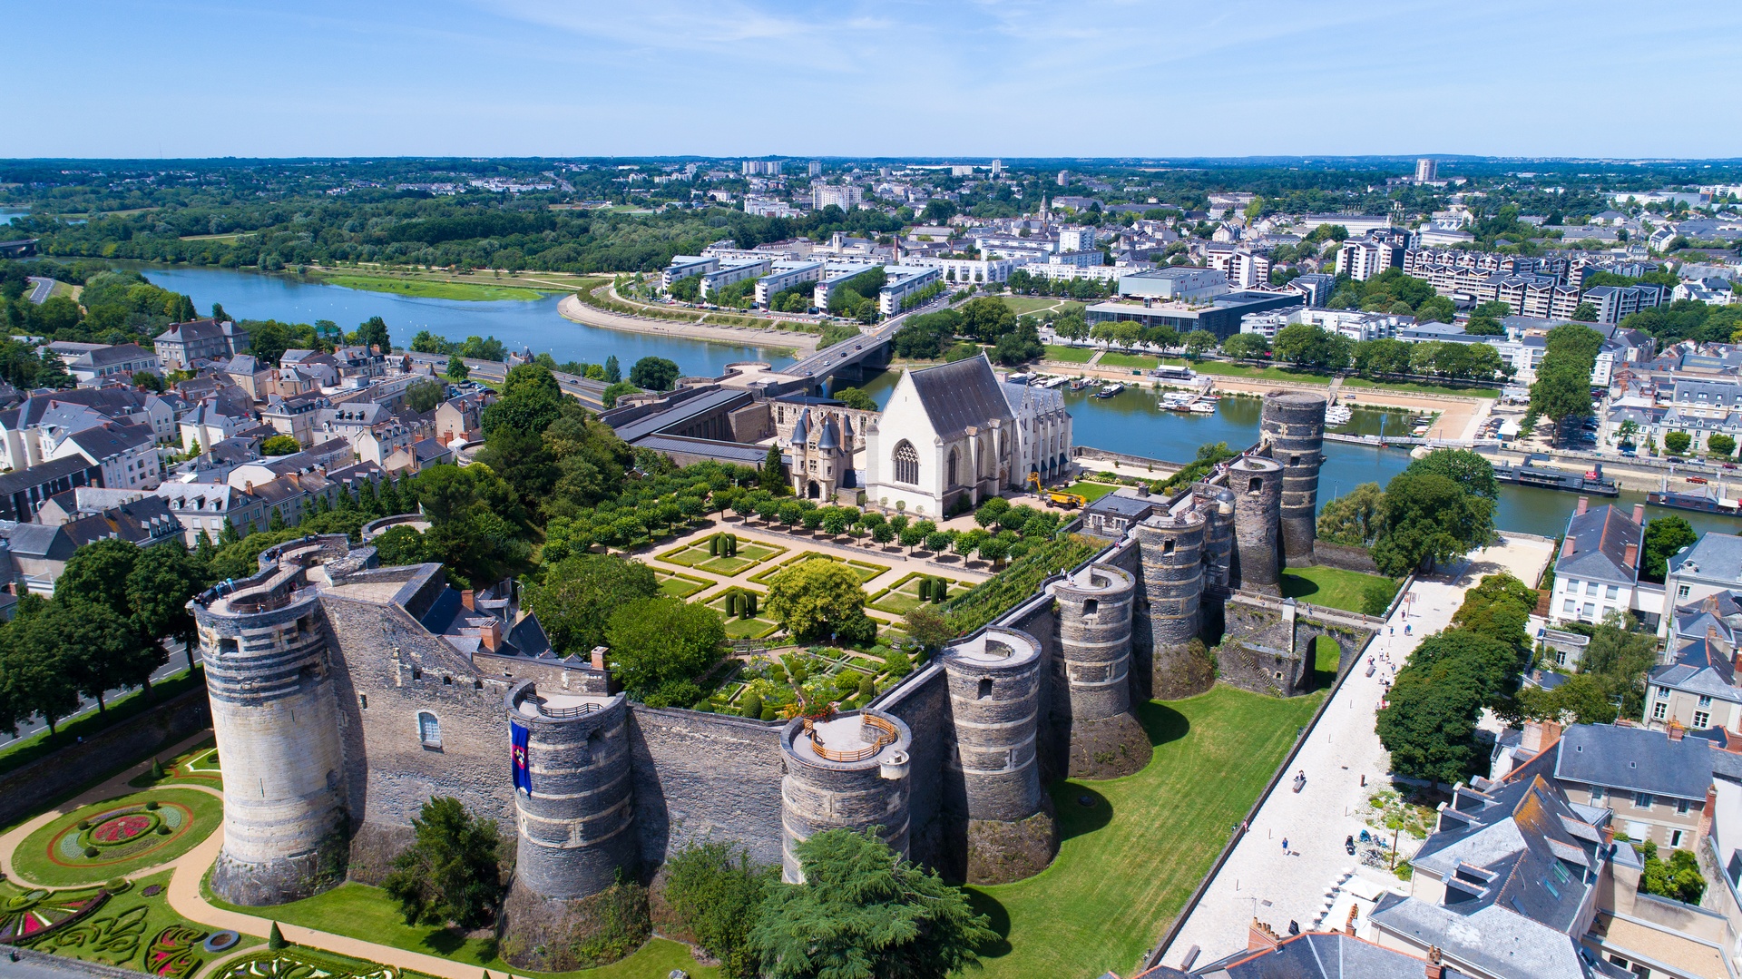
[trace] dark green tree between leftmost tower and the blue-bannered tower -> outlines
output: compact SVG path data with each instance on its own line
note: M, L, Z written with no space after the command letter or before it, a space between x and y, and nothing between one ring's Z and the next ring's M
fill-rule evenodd
M411 847L394 857L381 881L406 923L488 925L503 894L496 822L467 812L456 798L437 796L411 819Z

